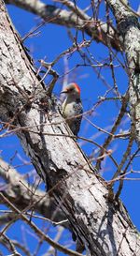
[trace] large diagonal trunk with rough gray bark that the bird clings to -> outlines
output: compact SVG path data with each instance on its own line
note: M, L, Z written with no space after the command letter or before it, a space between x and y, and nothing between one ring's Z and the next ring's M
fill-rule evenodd
M24 150L91 255L139 255L140 239L126 209L120 201L108 202L104 180L68 136L60 113L52 104L48 113L41 106L47 91L35 76L2 0L0 7L1 119L19 128Z

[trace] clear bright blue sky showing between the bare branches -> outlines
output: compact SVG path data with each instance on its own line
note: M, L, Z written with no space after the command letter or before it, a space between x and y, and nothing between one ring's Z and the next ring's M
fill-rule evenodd
M44 1L46 3L46 1ZM87 1L90 3L90 1ZM88 6L86 1L77 1L79 3L80 8ZM133 9L137 10L139 0L130 1ZM48 3L52 4L52 1L48 1ZM85 5L86 3L86 5ZM40 19L35 15L21 10L20 8L15 8L13 6L7 7L11 20L15 24L17 30L21 34L21 38L24 37L31 29L33 29L38 23L40 23ZM101 8L100 16L103 17L104 20L104 8ZM59 53L62 53L68 47L72 46L72 41L67 37L67 29L60 25L54 24L46 24L39 30L39 34L34 38L27 38L25 41L26 47L30 50L30 54L33 56L35 60L35 65L38 66L38 59L44 59L46 57L47 62L51 62ZM76 35L74 29L71 29L70 32L73 36ZM88 38L85 36L85 38ZM78 33L78 42L82 40L81 33ZM105 62L108 57L108 50L101 43L93 42L90 47L90 52L94 58L96 58L100 62ZM122 57L119 54L119 58ZM54 88L54 93L59 97L60 91L62 89L63 84L63 75L65 73L65 67L67 66L70 70L74 68L76 65L82 64L78 53L74 53L72 55L68 55L67 58L62 58L59 63L54 67L57 72L59 72L61 78L56 83ZM117 63L116 63L117 64ZM101 74L105 78L105 81L108 86L113 86L113 80L111 76L111 72L109 68L101 69ZM123 94L128 86L128 79L124 71L121 68L115 69L116 81L119 87L119 93ZM81 98L84 106L84 111L89 111L99 100L99 97L103 97L106 92L106 85L103 83L98 75L94 72L92 68L89 67L80 67L76 68L73 72L71 72L67 76L68 82L75 81L81 87ZM46 80L46 83L49 83L49 79ZM108 97L114 97L114 94L110 92ZM91 114L91 116L87 116L91 122L93 122L96 126L100 128L106 128L108 131L110 130L113 122L115 121L116 115L119 113L119 100L116 101L105 101L101 106L95 109L95 111ZM127 129L130 126L130 118L127 114L123 118L123 122L121 127L118 129L118 132L121 129ZM99 132L96 128L93 128L87 121L83 120L82 126L80 129L79 136L83 136L86 138L92 138L96 143L102 144L105 141L105 134ZM86 152L86 154L90 155L92 152L96 150L96 147L91 143L82 143L82 148ZM113 150L113 156L120 161L123 153L125 152L127 146L126 140L118 140L117 142L111 143L109 146L110 149ZM136 149L136 144L133 143L133 152ZM10 161L12 158L12 164L14 166L21 165L21 158L28 160L25 156L21 143L16 136L9 136L7 138L1 139L0 150L2 150L2 157ZM18 153L15 154L15 151ZM13 157L15 156L15 157ZM109 158L105 159L103 163L103 176L105 179L110 179L113 173L116 171L115 166L112 164ZM135 171L139 170L139 158L135 158L132 164L132 168ZM33 170L33 166L26 166L19 168L19 172L27 173ZM129 169L130 171L130 169ZM132 177L139 177L138 174L133 175ZM117 188L118 185L116 185ZM138 195L140 192L140 181L125 181L124 187L121 192L122 202L125 204L128 212L133 220L133 224L136 226L138 230L140 230L140 207L138 206ZM138 202L137 202L138 200ZM17 233L19 235L19 226L21 223L17 224ZM52 228L53 229L53 228ZM16 233L16 228L15 228ZM65 233L65 235L69 235ZM3 248L4 249L4 248ZM37 255L42 255L42 251L40 250ZM60 254L59 254L60 255Z

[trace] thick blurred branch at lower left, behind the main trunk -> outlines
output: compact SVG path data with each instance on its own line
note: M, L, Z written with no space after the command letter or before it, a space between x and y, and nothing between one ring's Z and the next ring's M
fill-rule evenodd
M28 205L31 205L32 209L32 205L34 204L34 210L45 218L48 218L50 222L52 220L52 224L57 224L57 222L66 220L63 212L56 208L53 198L49 197L47 193L38 188L33 189L33 186L29 185L21 174L1 158L0 176L7 182L7 185L4 186L3 193L7 196L7 199L19 209L23 210ZM12 218L11 214L10 217ZM8 214L6 218L0 218L1 224L6 221L9 221ZM62 221L62 224L64 227L68 228L68 223L66 222Z

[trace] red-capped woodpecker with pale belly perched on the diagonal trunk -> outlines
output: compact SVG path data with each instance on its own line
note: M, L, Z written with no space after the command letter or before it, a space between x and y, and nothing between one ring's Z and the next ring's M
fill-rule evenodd
M77 136L83 113L80 88L77 83L69 83L62 93L66 94L66 98L62 104L63 117L66 119L74 135Z

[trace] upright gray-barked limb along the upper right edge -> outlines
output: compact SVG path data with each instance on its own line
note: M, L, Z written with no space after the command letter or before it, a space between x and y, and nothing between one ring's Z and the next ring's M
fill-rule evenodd
M119 34L123 38L124 52L128 62L129 94L131 118L135 127L135 139L140 145L140 25L138 18L119 0L107 0L118 23Z

